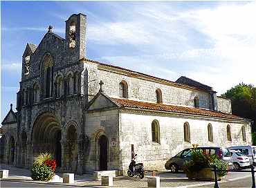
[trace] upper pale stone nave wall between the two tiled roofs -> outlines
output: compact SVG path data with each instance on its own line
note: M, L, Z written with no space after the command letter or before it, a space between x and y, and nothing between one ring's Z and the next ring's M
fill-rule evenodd
M112 71L104 71L98 69L96 64L91 65L90 62L87 62L87 64L89 78L91 80L97 80L97 82L89 84L89 94L91 95L98 93L99 86L97 84L102 80L104 82L102 86L104 93L110 97L119 97L119 83L125 80L128 84L129 100L156 102L156 89L160 88L163 95L163 104L194 107L194 97L199 96L199 107L204 109L211 108L210 93L195 89L174 87L149 79L140 79L120 73L113 73Z

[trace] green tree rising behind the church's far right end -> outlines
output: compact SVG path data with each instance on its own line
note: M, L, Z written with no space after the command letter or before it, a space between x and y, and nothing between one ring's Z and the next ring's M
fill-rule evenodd
M232 114L254 121L253 131L256 131L256 87L252 84L238 84L230 88L221 97L232 101Z

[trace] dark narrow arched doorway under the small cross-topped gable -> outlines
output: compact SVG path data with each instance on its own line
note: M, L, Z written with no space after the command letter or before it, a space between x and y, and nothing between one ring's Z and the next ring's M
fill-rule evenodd
M101 135L99 138L99 154L100 154L100 170L107 170L107 154L108 154L108 140L107 136Z

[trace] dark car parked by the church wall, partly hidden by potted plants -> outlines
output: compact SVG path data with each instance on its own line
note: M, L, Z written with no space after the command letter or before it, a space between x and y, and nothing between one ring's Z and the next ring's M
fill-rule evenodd
M205 153L216 154L224 160L228 162L229 167L232 167L232 158L231 153L228 149L224 147L197 147L196 149L202 149ZM176 156L170 158L165 163L165 169L170 169L173 173L183 169L183 163L185 160L191 159L191 151L192 148L184 149L179 152Z

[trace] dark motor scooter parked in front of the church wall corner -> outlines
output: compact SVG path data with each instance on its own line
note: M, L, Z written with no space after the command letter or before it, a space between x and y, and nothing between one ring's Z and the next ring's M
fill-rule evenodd
M129 177L136 176L136 178L139 177L140 179L143 179L144 178L144 166L143 166L143 163L136 164L136 162L135 162L136 156L137 156L137 154L134 156L134 159L132 159L131 163L129 164L129 169L127 171L127 175Z

